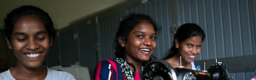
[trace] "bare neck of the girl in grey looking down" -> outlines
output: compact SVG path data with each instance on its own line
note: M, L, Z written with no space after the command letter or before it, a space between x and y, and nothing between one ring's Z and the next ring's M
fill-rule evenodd
M43 66L38 68L27 68L21 64L10 70L16 80L42 80L47 76L47 69Z

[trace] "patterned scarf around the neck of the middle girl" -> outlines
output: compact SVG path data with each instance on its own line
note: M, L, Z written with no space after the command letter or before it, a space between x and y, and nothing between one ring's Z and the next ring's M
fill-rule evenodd
M128 63L126 62L126 60L122 58L117 58L117 62L120 64L121 70L123 72L123 75L126 77L126 80L134 80L133 72ZM141 72L143 69L144 67L141 66Z

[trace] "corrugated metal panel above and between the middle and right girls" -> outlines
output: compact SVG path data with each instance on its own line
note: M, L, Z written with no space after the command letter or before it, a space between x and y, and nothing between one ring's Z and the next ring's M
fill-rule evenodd
M132 12L149 15L162 27L153 55L159 59L163 58L173 42L173 32L170 31L172 27L171 0L152 0L128 9L126 13L128 15Z

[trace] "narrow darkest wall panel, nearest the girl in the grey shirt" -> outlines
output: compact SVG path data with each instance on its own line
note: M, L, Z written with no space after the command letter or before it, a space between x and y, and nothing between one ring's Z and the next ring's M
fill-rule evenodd
M59 33L61 65L74 65L74 33L72 30Z

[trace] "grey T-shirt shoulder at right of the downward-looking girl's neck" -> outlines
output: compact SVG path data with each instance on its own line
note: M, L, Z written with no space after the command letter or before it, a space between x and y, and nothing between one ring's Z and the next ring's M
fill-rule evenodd
M45 80L76 80L73 75L65 71L58 71L53 69L48 69L48 74Z

